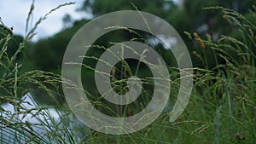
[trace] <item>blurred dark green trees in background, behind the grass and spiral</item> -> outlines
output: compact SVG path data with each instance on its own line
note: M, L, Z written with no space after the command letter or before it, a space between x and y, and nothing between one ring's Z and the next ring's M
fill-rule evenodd
M234 32L236 29L230 28L229 23L221 19L221 13L217 13L215 10L203 10L205 7L209 6L224 6L230 9L235 9L241 12L241 14L245 14L248 12L248 9L255 4L255 0L230 0L230 1L205 1L205 0L183 0L183 7L178 7L171 0L158 0L158 1L148 1L148 0L85 0L82 7L79 9L80 11L85 11L94 15L94 17L99 16L101 14L107 14L109 12L117 11L117 10L134 10L135 8L131 3L134 3L135 6L142 11L155 14L160 18L169 22L183 37L183 41L189 48L189 52L192 54L193 50L197 50L200 53L200 48L192 42L187 35L183 32L198 32L200 35L204 36L205 34L210 34L212 36L212 40L216 40L222 33L230 34L237 33ZM30 58L34 61L34 64L38 66L40 69L44 70L53 70L58 66L61 66L62 55L64 54L65 49L67 48L67 43L73 34L79 30L81 26L86 23L87 20L77 21L72 24L71 15L65 15L63 17L64 26L72 26L63 32L56 34L53 37L49 37L47 39L43 39L38 41L38 43L33 44L34 49L30 52ZM115 42L119 42L121 39L127 39L128 35L119 35L113 36ZM123 38L122 38L123 37ZM102 37L100 43L102 45L108 45L108 37ZM40 51L40 54L38 54ZM211 53L208 51L207 53ZM167 57L172 56L172 54L165 54ZM47 60L45 60L47 58ZM192 55L192 59L195 66L201 66L201 62L197 61L194 55ZM214 64L212 64L214 65Z

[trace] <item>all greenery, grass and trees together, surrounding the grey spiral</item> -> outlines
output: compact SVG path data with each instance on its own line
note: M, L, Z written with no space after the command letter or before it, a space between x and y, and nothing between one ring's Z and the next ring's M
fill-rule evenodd
M168 21L183 37L194 64L194 89L189 105L176 122L168 122L177 96L178 74L172 53L159 44L155 50L169 66L173 80L171 101L153 124L129 135L105 135L86 128L67 107L61 91L61 61L73 34L89 20L64 19L67 28L55 36L31 42L38 20L26 37L15 36L9 26L0 23L0 101L2 143L254 143L256 141L256 3L253 0L184 0L183 7L172 1L131 1L139 10L156 14ZM66 3L61 6L67 6ZM253 5L254 4L254 5ZM95 17L108 12L135 9L125 0L84 1L79 9ZM31 9L32 10L32 9ZM28 21L30 20L28 15ZM71 15L72 16L72 15ZM29 22L28 22L29 24ZM29 26L31 27L31 26ZM84 60L84 89L90 99L102 102L93 81L93 69L102 47L132 37L147 42L147 33L138 37L127 32L113 32L100 37ZM143 40L142 40L143 39ZM171 61L171 62L170 62ZM125 89L125 72L134 70L138 61L119 63L113 75L113 87ZM150 76L145 66L136 73ZM131 115L150 100L152 87L145 86L142 98L129 111L103 101L95 105L102 112ZM25 96L24 96L25 95ZM148 100L149 98L149 100ZM142 103L142 105L140 105ZM5 107L4 107L5 106ZM8 106L8 108L6 108Z

